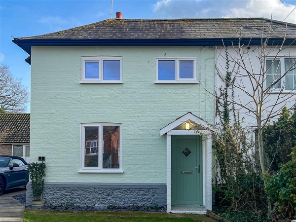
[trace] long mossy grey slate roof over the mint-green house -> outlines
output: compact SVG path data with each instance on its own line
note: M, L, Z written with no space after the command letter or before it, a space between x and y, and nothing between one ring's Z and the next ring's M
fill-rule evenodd
M15 39L196 39L262 37L269 32L270 19L108 19L60 32ZM286 32L287 31L287 32ZM270 37L296 38L296 24L273 20ZM263 35L263 36L264 36Z

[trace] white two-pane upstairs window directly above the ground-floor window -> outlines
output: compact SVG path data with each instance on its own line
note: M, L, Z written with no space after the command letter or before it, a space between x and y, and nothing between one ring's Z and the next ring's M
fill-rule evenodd
M122 57L81 57L81 83L122 83Z

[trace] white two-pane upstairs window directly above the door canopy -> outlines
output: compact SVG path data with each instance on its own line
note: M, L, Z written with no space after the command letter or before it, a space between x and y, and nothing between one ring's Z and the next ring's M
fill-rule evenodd
M197 83L197 58L156 58L156 83Z

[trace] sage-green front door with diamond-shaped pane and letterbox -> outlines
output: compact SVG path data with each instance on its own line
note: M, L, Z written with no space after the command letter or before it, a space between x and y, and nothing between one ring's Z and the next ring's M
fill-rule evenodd
M172 205L203 205L201 137L172 136Z

